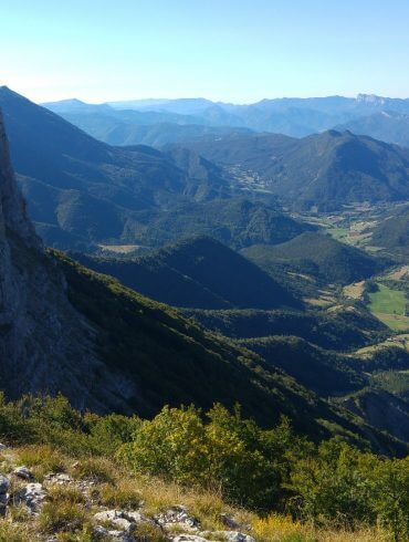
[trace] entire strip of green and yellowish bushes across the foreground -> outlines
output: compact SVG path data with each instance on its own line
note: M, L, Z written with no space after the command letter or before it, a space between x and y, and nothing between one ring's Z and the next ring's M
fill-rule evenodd
M307 540L303 523L352 531L378 525L395 541L409 536L409 457L382 458L339 439L315 446L297 437L286 418L266 430L244 419L239 406L231 413L216 404L206 414L193 406L165 407L141 420L81 414L62 396L15 403L1 397L0 430L3 441L25 444L21 457L36 475L64 470L67 456L81 457L72 473L96 480L107 505L136 505L141 498L135 486L119 483L114 459L139 479L210 490L268 513L260 540L274 540L270 532L284 521L274 513L284 511L298 521L287 521L289 540ZM75 492L62 496L56 489L39 521L44 532L63 525L87 536L87 519L78 510Z

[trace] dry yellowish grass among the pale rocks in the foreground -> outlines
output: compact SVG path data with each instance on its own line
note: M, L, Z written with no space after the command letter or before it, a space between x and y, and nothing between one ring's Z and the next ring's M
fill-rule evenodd
M45 472L55 466L64 466L73 472L71 457L53 451L50 447L29 446L13 449L15 461L30 463ZM70 467L71 466L71 467ZM187 507L189 514L199 520L203 531L224 531L221 514L227 513L241 525L251 525L256 542L381 542L385 536L376 529L350 532L336 528L319 529L302 524L290 517L271 514L259 517L254 512L228 504L217 491L189 489L177 483L145 476L132 476L122 465L111 459L78 458L74 467L78 478L91 477L96 481L92 497L76 488L55 486L49 488L48 500L36 519L27 517L11 507L8 519L0 519L0 542L27 542L56 535L59 542L92 542L92 515L101 505L138 510L153 517L175 504ZM104 479L102 482L101 479ZM90 500L92 499L92 500ZM15 509L15 510L13 510ZM240 528L245 532L244 528ZM150 524L140 524L135 532L137 540L165 542L164 534ZM218 539L219 540L219 539Z

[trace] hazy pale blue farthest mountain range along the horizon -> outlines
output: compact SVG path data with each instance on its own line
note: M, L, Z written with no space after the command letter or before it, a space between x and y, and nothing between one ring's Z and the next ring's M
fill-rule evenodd
M359 94L356 98L328 96L262 100L249 105L204 98L136 100L101 105L69 100L43 105L107 143L112 143L108 139L116 132L116 144L143 143L143 132L133 133L132 126L150 125L155 121L179 125L243 127L303 137L379 112L409 114L408 100L366 94Z

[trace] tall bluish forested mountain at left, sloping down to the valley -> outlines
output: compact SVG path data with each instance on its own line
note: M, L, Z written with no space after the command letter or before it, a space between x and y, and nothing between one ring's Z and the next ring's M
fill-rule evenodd
M224 169L192 150L108 146L7 87L0 106L30 217L49 246L158 247L191 234L248 246L308 228L271 198L245 202L252 196L239 190L238 200Z

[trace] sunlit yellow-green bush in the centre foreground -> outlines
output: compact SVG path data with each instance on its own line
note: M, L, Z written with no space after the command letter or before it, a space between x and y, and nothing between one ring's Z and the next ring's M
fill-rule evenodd
M283 419L272 430L216 405L200 410L164 408L146 420L122 456L140 472L183 484L220 489L235 502L269 509L283 497L287 451L301 447Z

